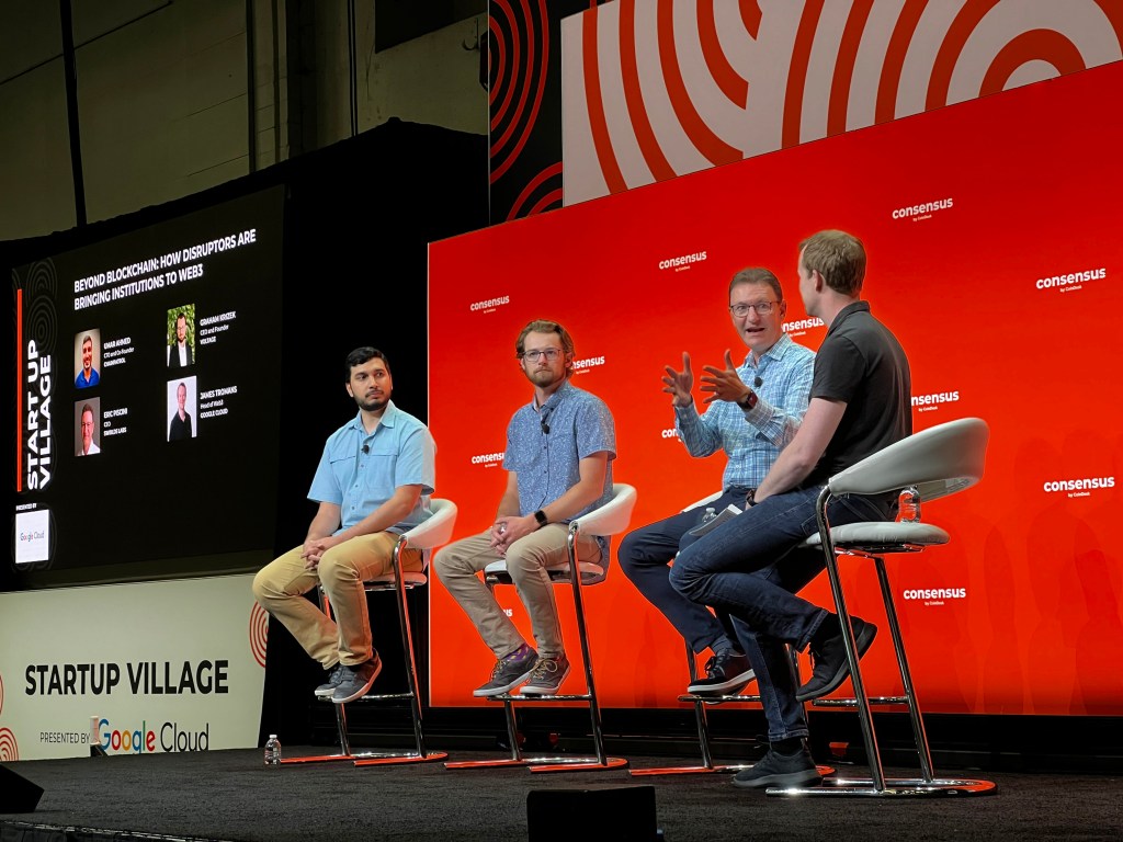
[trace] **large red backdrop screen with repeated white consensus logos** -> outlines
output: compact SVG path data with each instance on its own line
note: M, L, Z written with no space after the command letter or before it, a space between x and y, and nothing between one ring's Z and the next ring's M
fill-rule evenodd
M697 375L727 349L740 364L728 285L747 266L777 274L785 330L818 349L827 326L803 309L798 244L843 229L868 251L862 298L909 354L914 428L980 417L992 430L982 483L922 509L950 542L888 561L924 708L1123 713L1111 666L1123 651L1123 116L1104 107L1121 86L1123 64L1104 65L433 244L430 424L456 538L494 520L504 430L532 397L514 340L537 318L573 333L574 385L613 412L632 528L718 491L724 457L692 458L677 440L664 367L690 351ZM684 642L621 573L620 538L585 591L600 701L682 706ZM895 695L873 565L842 571L850 611L883 630L867 687ZM804 595L833 607L825 576ZM514 588L496 596L532 641ZM472 690L492 652L439 580L430 598L432 704L489 704ZM563 693L581 692L572 598L557 601L575 665Z

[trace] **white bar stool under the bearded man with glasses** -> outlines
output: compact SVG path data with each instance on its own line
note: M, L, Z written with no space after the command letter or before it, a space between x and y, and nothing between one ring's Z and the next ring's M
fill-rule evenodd
M628 529L632 509L636 505L636 488L631 485L617 483L612 486L612 500L603 506L569 523L566 537L566 551L569 564L562 568L549 570L550 582L555 585L569 585L573 589L574 606L577 616L577 637L581 639L581 655L585 663L586 692L582 694L557 694L553 696L526 696L515 693L502 693L491 696L503 703L506 733L511 745L511 756L494 760L466 760L445 763L446 769L482 769L499 766L527 766L532 772L576 771L590 769L617 769L628 765L623 758L608 757L604 750L604 734L601 729L601 708L596 701L596 684L593 678L593 659L588 646L588 632L585 623L585 602L582 591L601 582L604 567L577 558L578 533L609 537ZM513 584L506 571L505 561L495 561L484 568L484 583L494 589L496 585ZM514 717L515 702L585 702L588 705L593 727L593 745L595 757L524 757L519 748L518 725Z

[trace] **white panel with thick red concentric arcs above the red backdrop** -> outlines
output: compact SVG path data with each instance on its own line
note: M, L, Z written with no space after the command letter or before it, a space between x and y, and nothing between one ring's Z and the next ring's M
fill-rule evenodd
M562 47L572 204L1120 61L1123 4L618 0Z

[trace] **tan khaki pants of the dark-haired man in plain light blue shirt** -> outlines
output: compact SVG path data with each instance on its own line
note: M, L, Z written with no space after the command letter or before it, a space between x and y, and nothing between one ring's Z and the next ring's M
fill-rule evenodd
M351 538L325 552L314 570L304 567L303 548L296 547L257 571L254 597L326 669L337 662L357 666L374 657L363 582L393 569L396 542L392 532ZM422 566L420 550L402 552L402 570ZM323 586L335 622L304 598L317 585Z

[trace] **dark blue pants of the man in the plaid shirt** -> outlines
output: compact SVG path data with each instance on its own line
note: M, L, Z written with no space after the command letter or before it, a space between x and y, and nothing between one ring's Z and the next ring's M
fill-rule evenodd
M745 506L748 488L730 488L705 505L678 512L661 521L640 527L624 536L617 551L620 567L643 597L670 621L691 649L703 652L722 638L737 646L737 633L705 606L693 603L670 585L668 562L696 539L687 532L702 522L706 506L720 512L730 503Z

